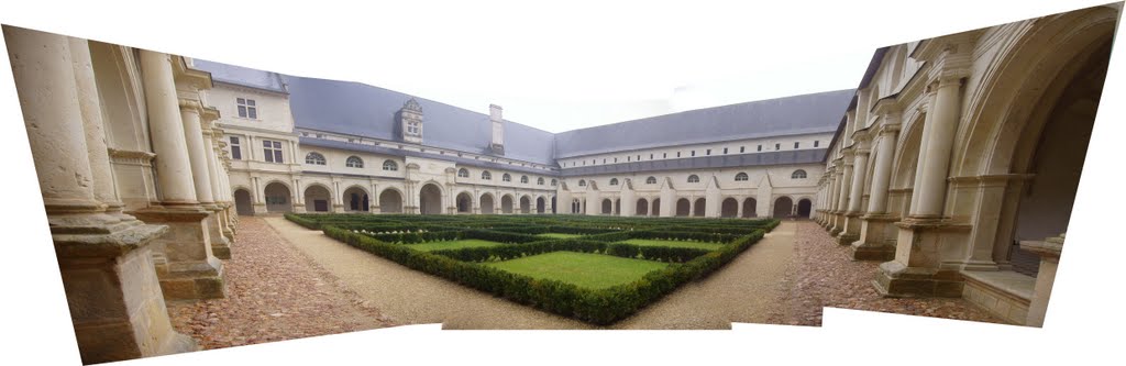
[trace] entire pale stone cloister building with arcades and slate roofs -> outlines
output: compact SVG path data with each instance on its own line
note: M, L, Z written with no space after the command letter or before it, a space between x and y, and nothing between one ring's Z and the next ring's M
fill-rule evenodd
M876 51L857 89L549 133L3 27L82 360L197 349L239 215L810 217L886 296L1043 324L1120 8ZM859 70L858 70L859 71Z

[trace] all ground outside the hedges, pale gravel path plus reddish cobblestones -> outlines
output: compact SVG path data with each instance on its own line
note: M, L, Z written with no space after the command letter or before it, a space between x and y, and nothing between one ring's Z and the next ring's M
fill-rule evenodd
M283 217L241 217L227 297L169 303L205 349L400 324L444 329L598 329L414 271ZM812 222L783 222L723 269L610 329L820 325L822 306L1000 322L963 300L883 298L876 262L857 262Z

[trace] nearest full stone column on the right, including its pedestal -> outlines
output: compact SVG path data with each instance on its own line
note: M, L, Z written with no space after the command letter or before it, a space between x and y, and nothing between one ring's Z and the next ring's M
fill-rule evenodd
M911 216L902 220L895 259L879 265L876 291L884 296L960 297L964 287L956 268L942 266L942 233L959 230L942 220L950 149L958 127L959 78L939 78L936 97L923 126L923 144L915 177ZM931 84L935 90L935 84Z

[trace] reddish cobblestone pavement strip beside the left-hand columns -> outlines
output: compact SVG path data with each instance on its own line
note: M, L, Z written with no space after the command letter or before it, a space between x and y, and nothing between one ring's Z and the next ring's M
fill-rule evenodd
M231 255L225 298L168 303L172 327L203 349L395 325L262 218L239 220Z

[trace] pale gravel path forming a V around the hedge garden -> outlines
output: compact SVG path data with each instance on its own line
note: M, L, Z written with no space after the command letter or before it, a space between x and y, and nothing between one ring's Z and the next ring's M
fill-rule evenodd
M265 220L395 323L443 323L445 329L596 328L408 269L283 217ZM720 271L680 287L613 328L730 329L733 321L766 321L771 306L781 304L785 291L777 278L785 275L794 255L796 227L784 223Z

